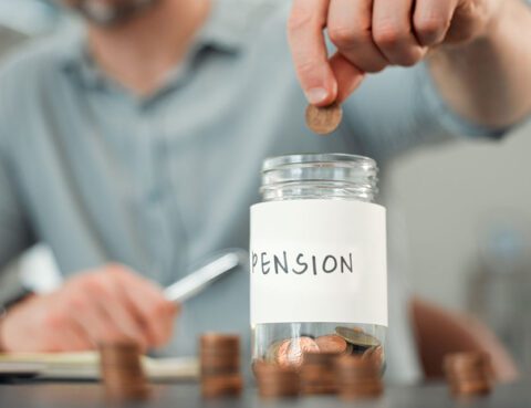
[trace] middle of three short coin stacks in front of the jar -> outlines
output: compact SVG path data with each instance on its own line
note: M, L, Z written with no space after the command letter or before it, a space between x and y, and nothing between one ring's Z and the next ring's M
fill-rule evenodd
M305 395L337 391L334 362L337 353L305 353L301 367L301 389Z

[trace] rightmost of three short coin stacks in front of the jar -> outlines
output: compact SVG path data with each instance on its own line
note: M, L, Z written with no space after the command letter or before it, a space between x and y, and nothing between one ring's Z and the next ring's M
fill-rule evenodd
M376 398L384 391L381 360L365 356L342 356L335 360L339 395L343 399Z

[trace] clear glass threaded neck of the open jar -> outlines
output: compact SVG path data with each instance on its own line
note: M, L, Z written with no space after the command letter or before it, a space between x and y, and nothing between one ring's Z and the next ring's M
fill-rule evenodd
M322 154L267 159L260 192L264 201L342 199L373 202L378 168L368 157Z

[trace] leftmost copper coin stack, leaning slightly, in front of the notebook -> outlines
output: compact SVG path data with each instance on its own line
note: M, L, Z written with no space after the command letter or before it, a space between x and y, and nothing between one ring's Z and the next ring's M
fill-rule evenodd
M149 387L142 369L140 348L135 343L100 345L100 369L108 398L146 399Z

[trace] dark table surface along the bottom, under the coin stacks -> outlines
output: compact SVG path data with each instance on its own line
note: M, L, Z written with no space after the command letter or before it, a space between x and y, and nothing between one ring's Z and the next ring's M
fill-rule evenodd
M0 385L1 408L111 407L103 387L90 383L38 383ZM238 398L205 400L197 384L153 385L147 401L127 402L126 407L153 408L530 408L531 381L498 386L487 397L455 399L444 384L418 387L387 387L375 400L342 401L336 397L301 397L284 400L260 400L252 387Z

